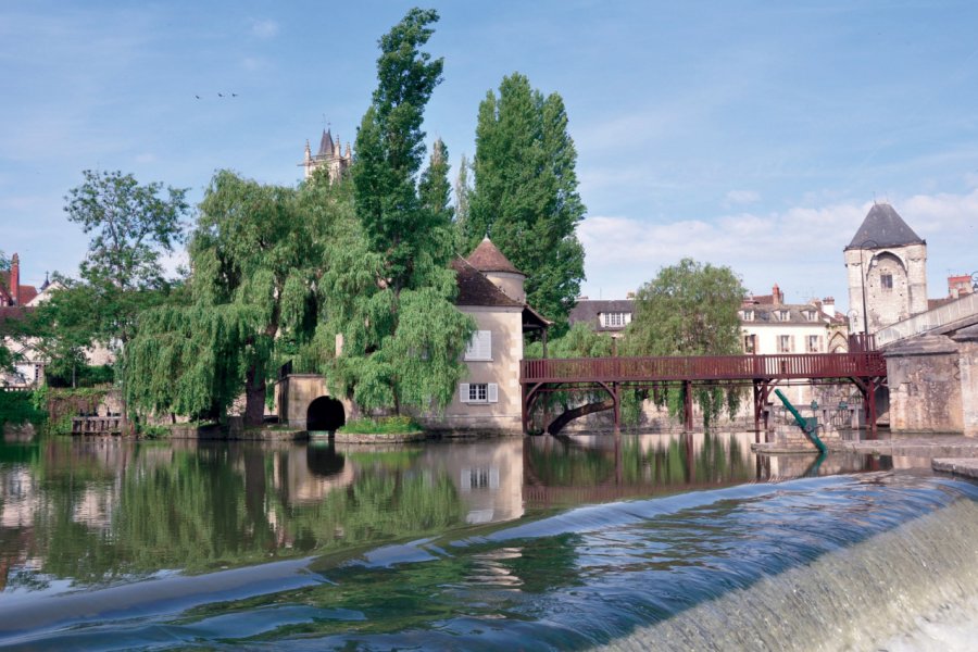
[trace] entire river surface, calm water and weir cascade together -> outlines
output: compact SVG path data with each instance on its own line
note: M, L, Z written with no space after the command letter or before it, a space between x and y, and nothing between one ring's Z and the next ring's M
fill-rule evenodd
M751 435L0 443L0 647L969 649L978 488Z

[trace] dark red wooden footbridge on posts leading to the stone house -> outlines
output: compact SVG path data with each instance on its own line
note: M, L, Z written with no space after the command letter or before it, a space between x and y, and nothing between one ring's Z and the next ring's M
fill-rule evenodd
M547 392L606 393L611 405L601 404L590 412L613 409L617 430L623 391L655 392L669 386L686 390L684 422L692 429L695 388L747 385L753 387L754 427L760 429L763 421L766 428L764 406L775 386L798 381L852 383L863 394L867 423L875 428L876 390L886 385L887 363L879 351L865 349L850 353L524 360L519 363L523 430L528 431L534 405Z

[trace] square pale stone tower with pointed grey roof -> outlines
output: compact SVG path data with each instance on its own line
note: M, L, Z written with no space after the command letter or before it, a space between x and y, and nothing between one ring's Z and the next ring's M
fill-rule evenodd
M927 242L893 206L874 203L843 251L852 333L873 334L927 311Z

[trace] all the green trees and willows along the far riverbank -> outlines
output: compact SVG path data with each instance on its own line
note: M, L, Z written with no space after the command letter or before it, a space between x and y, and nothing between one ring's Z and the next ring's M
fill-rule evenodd
M55 274L50 300L0 323L0 335L29 340L73 386L91 374L87 349L112 349L123 413L142 429L150 415L224 423L242 394L246 426L260 426L288 362L323 374L352 419L437 412L465 377L475 329L453 304L449 263L488 234L527 274L528 301L554 321L552 350L607 354L607 338L567 327L584 280L576 226L586 209L560 95L544 97L519 73L488 91L454 201L440 139L423 170L425 106L443 70L424 49L437 21L434 10L412 9L379 39L356 158L339 178L319 170L285 187L218 171L191 226L186 189L85 171L65 198L68 220L92 234L78 278ZM167 277L163 256L181 244L189 268ZM740 292L726 267L687 260L663 269L639 292L627 353L730 352ZM528 341L534 351L539 342ZM0 366L14 362L0 346ZM629 396L626 416L649 398ZM724 403L718 390L695 398L711 418Z

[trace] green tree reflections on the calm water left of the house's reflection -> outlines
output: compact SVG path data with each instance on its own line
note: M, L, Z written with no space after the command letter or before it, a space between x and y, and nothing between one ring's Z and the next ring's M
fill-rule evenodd
M203 573L437 535L466 513L443 471L390 464L390 453L348 462L331 446L52 439L33 448L0 462L0 588ZM367 471L347 474L351 465ZM305 500L290 469L299 485L325 478L325 490Z

